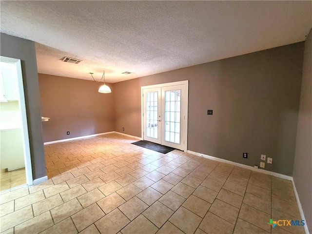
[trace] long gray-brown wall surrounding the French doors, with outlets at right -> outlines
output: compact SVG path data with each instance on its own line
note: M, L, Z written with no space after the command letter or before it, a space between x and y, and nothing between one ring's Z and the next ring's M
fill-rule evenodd
M265 154L273 158L265 170L292 176L303 49L299 42L115 83L115 131L141 137L141 86L189 80L189 150L250 166Z

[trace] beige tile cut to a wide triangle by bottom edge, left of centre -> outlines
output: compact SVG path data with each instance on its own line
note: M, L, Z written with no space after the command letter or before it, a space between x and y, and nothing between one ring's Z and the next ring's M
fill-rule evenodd
M122 234L155 234L158 228L143 215L139 215L135 220L122 229Z

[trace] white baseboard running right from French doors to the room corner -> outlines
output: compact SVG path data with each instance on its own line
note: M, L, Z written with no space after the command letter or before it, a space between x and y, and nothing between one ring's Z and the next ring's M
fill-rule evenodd
M218 158L218 157L214 157L214 156L209 156L209 155L204 155L204 154L200 154L200 153L193 152L193 151L190 151L190 150L188 150L187 153L192 154L192 155L205 157L205 158L208 158L208 159L212 159L212 160L215 160L215 161L218 161L218 162L228 163L228 164L231 164L231 165L234 165L234 166L237 166L237 167L246 168L246 169L249 169L249 170L252 170L252 171L255 171L255 172L260 172L260 173L263 173L263 174L267 174L267 175L270 175L270 176L276 176L278 178L292 180L292 176L286 176L286 175L279 174L279 173L276 173L276 172L270 172L270 171L262 170L262 169L259 169L259 168L254 168L252 166L244 165L244 164L237 163L237 162L232 162L232 161L229 161L229 160L226 160L226 159L222 159L222 158Z

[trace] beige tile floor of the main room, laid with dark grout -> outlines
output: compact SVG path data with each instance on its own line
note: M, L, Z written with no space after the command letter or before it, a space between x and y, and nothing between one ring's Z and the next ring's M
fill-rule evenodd
M49 179L0 196L4 234L301 234L291 181L117 134L45 146Z

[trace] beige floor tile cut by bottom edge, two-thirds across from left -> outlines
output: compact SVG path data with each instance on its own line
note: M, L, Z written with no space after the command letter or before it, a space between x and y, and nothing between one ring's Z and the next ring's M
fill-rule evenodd
M209 234L232 234L234 225L208 212L199 228Z

